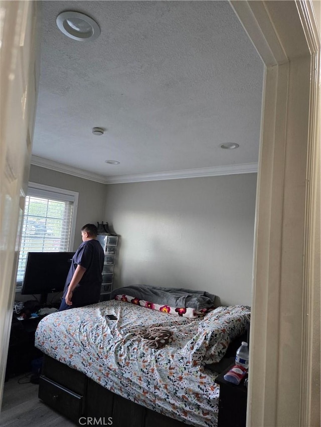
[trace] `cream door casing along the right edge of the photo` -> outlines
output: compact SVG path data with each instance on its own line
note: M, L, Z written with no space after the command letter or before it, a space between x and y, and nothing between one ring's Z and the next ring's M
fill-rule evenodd
M320 425L320 37L307 1L230 2L265 64L247 425Z

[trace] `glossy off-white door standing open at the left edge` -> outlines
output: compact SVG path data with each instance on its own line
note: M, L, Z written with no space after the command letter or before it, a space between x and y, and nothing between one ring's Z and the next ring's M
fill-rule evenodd
M36 3L17 1L0 5L0 406L38 93L39 9Z

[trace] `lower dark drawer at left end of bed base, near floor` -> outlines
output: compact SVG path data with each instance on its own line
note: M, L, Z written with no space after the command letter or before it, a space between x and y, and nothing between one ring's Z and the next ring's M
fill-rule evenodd
M39 378L38 397L76 423L84 413L84 397L82 395L62 387L43 375Z

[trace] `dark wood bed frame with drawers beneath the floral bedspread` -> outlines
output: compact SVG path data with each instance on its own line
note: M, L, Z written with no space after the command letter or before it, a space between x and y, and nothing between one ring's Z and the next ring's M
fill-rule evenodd
M246 340L246 337L247 333L236 338L229 345L220 363L206 367L218 373L222 372L231 364L231 357L233 360L240 342ZM125 399L88 378L84 373L47 355L44 355L42 374L39 379L39 398L77 425L114 425L115 427L183 427L187 425Z

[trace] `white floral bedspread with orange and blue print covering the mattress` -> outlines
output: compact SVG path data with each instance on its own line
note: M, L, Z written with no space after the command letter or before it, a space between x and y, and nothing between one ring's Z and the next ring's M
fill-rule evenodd
M129 400L187 424L214 427L216 374L202 363L182 363L182 349L198 334L201 321L112 300L46 316L35 345ZM170 329L173 342L150 348L140 332L155 325Z

